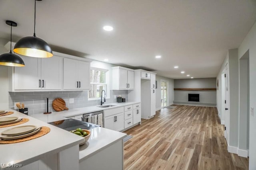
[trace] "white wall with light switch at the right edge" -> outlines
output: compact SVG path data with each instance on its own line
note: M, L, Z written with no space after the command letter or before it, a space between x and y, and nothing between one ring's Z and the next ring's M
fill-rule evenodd
M238 48L238 59L249 50L249 70L250 70L250 107L256 108L256 23L246 35L244 41ZM249 169L256 169L256 115L250 114L249 133Z

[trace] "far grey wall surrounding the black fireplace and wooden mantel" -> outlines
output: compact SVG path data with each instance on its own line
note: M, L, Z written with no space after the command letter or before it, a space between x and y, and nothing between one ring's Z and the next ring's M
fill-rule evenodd
M216 88L216 78L189 78L174 80L174 88ZM188 94L199 94L200 102L188 102ZM174 104L216 106L215 90L174 91Z

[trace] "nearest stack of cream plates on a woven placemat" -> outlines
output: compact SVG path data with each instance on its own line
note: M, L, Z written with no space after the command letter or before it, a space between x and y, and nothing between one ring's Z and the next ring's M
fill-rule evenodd
M2 131L2 136L0 136L0 141L28 137L28 136L38 133L40 131L40 129L41 129L41 127L34 126L34 125L10 128L5 131Z

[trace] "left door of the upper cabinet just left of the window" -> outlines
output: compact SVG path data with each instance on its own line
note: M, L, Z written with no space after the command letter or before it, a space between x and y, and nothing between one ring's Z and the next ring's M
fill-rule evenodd
M78 89L77 60L64 58L63 64L63 88L64 90Z

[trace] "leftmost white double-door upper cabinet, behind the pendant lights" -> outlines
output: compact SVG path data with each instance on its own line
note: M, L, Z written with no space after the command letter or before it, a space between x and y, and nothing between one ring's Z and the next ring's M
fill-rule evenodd
M22 59L25 66L14 67L9 73L10 91L62 89L62 57Z

